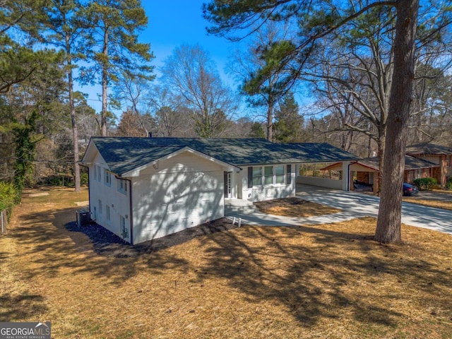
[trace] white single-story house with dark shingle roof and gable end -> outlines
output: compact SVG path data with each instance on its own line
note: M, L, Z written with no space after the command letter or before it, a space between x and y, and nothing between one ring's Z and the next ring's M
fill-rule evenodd
M295 196L302 162L358 159L326 143L265 139L91 138L91 218L131 244L225 216L225 198Z

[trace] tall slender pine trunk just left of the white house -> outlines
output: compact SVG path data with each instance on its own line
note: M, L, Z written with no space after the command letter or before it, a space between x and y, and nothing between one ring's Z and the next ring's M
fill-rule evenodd
M66 34L66 58L68 66L68 87L69 87L69 109L71 110L72 123L72 137L73 137L73 182L76 192L80 191L80 160L78 154L78 128L76 120L76 107L73 102L73 77L72 77L72 59L71 59L71 44L69 42L69 35Z

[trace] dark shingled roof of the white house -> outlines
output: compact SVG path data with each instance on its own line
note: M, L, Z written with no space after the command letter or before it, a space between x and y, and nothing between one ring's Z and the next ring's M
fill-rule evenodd
M261 138L119 138L90 140L117 174L155 162L183 148L241 167L246 165L358 160L328 143L271 143ZM85 159L85 156L83 157Z

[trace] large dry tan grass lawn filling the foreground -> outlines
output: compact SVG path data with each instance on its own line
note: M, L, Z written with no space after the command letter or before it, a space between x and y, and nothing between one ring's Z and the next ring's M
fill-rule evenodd
M24 198L0 236L0 322L54 338L452 338L452 237L375 220L248 227L135 257L64 227L88 194Z

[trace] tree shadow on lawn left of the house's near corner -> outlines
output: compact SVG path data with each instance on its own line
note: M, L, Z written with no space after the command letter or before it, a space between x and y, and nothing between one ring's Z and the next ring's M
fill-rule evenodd
M76 208L66 208L18 217L11 237L20 244L23 256L29 258L22 268L25 278L36 275L52 278L57 277L61 270L71 269L74 273L87 272L100 278L107 277L111 283L121 285L143 269L136 265L136 259L153 252L152 246L135 249L121 242L120 238L114 239L116 236L105 234L102 231L105 229L100 226L96 227L100 231L93 240L90 236L94 237L93 234L97 233L94 231L95 226L91 233L85 234L81 232L83 228L77 230L74 222L67 222L75 217L75 211ZM66 221L66 224L61 221ZM90 227L86 230L90 230ZM168 266L188 270L184 258L160 252L153 253L152 259L145 264L145 268L153 274L164 274Z

